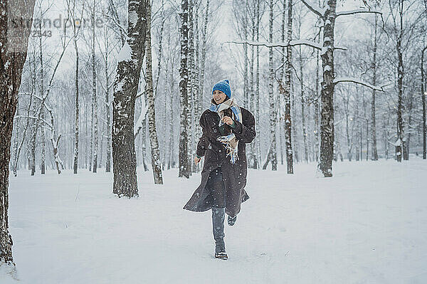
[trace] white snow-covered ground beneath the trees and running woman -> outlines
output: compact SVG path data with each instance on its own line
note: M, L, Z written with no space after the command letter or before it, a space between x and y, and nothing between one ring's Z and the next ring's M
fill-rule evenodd
M10 178L20 281L0 283L427 283L427 162L315 164L248 172L251 199L213 258L211 213L184 211L200 175L164 185L139 169L139 198L80 169Z

